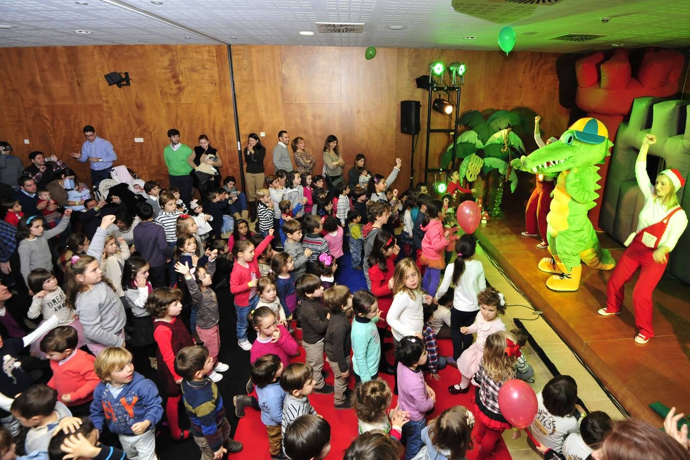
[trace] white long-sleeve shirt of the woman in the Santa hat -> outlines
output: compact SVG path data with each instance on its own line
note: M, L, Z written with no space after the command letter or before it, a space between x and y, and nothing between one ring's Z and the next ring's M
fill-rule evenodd
M671 210L659 203L659 200L656 198L654 186L647 174L647 161L635 163L635 179L637 179L638 186L640 186L640 190L644 195L644 206L642 206L642 211L640 211L640 217L638 218L638 228L635 229L635 233L637 233L643 228L664 219ZM673 217L669 219L669 225L662 235L658 247L666 246L669 250L673 250L687 226L688 217L684 210L673 214Z

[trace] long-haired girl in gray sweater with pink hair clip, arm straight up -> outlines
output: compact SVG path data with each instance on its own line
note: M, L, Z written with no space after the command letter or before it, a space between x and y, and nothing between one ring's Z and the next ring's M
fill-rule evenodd
M108 226L115 221L103 217L86 255L72 256L65 269L66 305L77 310L88 349L98 356L106 347L124 346L125 309L115 286L99 268Z

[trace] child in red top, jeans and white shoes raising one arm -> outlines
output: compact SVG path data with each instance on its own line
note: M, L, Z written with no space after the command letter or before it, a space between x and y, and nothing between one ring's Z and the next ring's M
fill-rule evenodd
M259 262L254 257L255 252L261 254L273 239L273 228L268 230L268 237L264 238L256 251L253 243L248 239L235 241L233 256L235 265L230 273L230 292L235 294L235 312L237 313L237 345L242 350L251 350L252 344L247 340L247 315L259 303L257 282L261 278Z

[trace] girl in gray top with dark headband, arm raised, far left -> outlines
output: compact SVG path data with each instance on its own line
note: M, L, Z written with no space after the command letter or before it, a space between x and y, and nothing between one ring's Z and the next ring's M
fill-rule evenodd
M71 209L65 210L65 215L55 228L43 229L41 216L24 216L17 224L17 239L19 240L19 265L24 283L28 285L29 273L36 268L52 269L52 259L48 240L64 232L70 223Z

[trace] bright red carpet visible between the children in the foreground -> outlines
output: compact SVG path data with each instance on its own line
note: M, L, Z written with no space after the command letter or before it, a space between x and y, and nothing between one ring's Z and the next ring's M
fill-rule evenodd
M299 330L297 332L297 337L299 337ZM387 339L392 340L392 339ZM439 341L440 353L443 355L449 355L452 353L453 346L450 340ZM300 347L302 354L299 357L293 359L293 362L301 361L304 362L304 350ZM388 361L393 363L392 352L388 351ZM324 364L324 369L328 370L329 375L326 378L326 382L333 384L333 374L330 372L331 368L328 367L328 363ZM455 405L465 406L466 408L471 408L473 412L476 412L476 407L472 403L474 392L471 390L468 394L457 394L453 396L448 392L448 386L453 383L458 383L460 381L460 373L457 369L446 367L444 370L439 372L441 379L435 381L431 377L426 375L426 382L431 388L436 392L436 405L434 412L427 417L427 420L434 419L441 412L447 408ZM388 382L388 385L393 388L393 376L383 375L382 376ZM355 379L351 377L350 388L354 388ZM254 393L255 395L255 393ZM393 395L393 407L395 407L397 397ZM316 411L321 414L324 419L331 423L331 453L328 454L326 459L336 460L342 459L343 452L348 448L350 443L357 437L357 417L355 416L355 410L337 410L333 407L333 394L311 394L309 401ZM270 459L270 454L268 454L268 437L266 437L266 428L261 422L260 413L253 410L252 408L246 409L246 415L240 419L237 426L237 432L235 433L235 439L244 443L245 455L251 452L251 458L253 460L267 460ZM467 458L473 460L477 457L477 448L467 452ZM244 457L249 458L249 457ZM495 459L510 459L505 443L501 440L495 449Z

